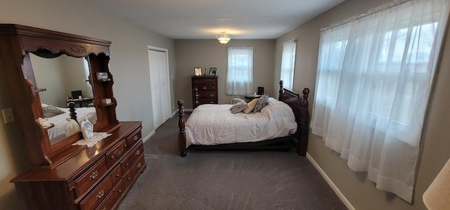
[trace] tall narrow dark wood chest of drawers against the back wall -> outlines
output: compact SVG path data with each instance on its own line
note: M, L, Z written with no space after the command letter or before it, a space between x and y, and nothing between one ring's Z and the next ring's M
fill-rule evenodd
M218 103L217 78L218 77L192 77L193 109L207 103Z

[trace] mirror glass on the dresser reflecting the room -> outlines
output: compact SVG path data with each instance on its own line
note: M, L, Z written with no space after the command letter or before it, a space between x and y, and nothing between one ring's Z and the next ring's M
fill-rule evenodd
M76 105L77 121L86 117L92 124L97 122L94 94L89 84L89 64L84 58L74 58L62 54L56 58L46 58L30 53L37 86L46 88L39 93L44 117L54 124L48 129L50 144L73 134L73 122L70 122L68 102ZM81 91L81 97L77 93ZM73 98L73 94L76 98Z

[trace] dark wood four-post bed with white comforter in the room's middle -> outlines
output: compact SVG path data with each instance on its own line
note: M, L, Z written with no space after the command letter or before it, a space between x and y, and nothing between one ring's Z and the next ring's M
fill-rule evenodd
M233 105L200 105L188 121L184 120L184 101L178 101L179 150L181 157L187 149L201 150L290 150L306 155L308 139L308 96L283 88L280 81L278 100L269 98L269 105L260 112L232 114Z

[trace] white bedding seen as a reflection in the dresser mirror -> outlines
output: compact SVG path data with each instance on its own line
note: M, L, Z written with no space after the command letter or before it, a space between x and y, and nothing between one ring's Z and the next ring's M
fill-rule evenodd
M49 120L51 124L55 124L53 128L47 130L51 142L58 141L60 138L67 137L65 136L64 127L65 125L68 124L68 121L66 119L70 118L69 115L70 112L68 108L61 108L61 107L58 108L60 110L63 110L65 113L46 118ZM97 122L97 114L95 107L79 107L75 108L75 112L77 112L78 122L82 122L82 119L84 119L84 117L87 117L87 119L89 119L89 122L91 122L92 124L95 124Z

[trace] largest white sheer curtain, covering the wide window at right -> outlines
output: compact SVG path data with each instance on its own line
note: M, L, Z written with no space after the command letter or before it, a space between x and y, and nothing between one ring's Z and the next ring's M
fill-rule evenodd
M321 33L312 133L408 202L448 13L447 0L403 1Z

